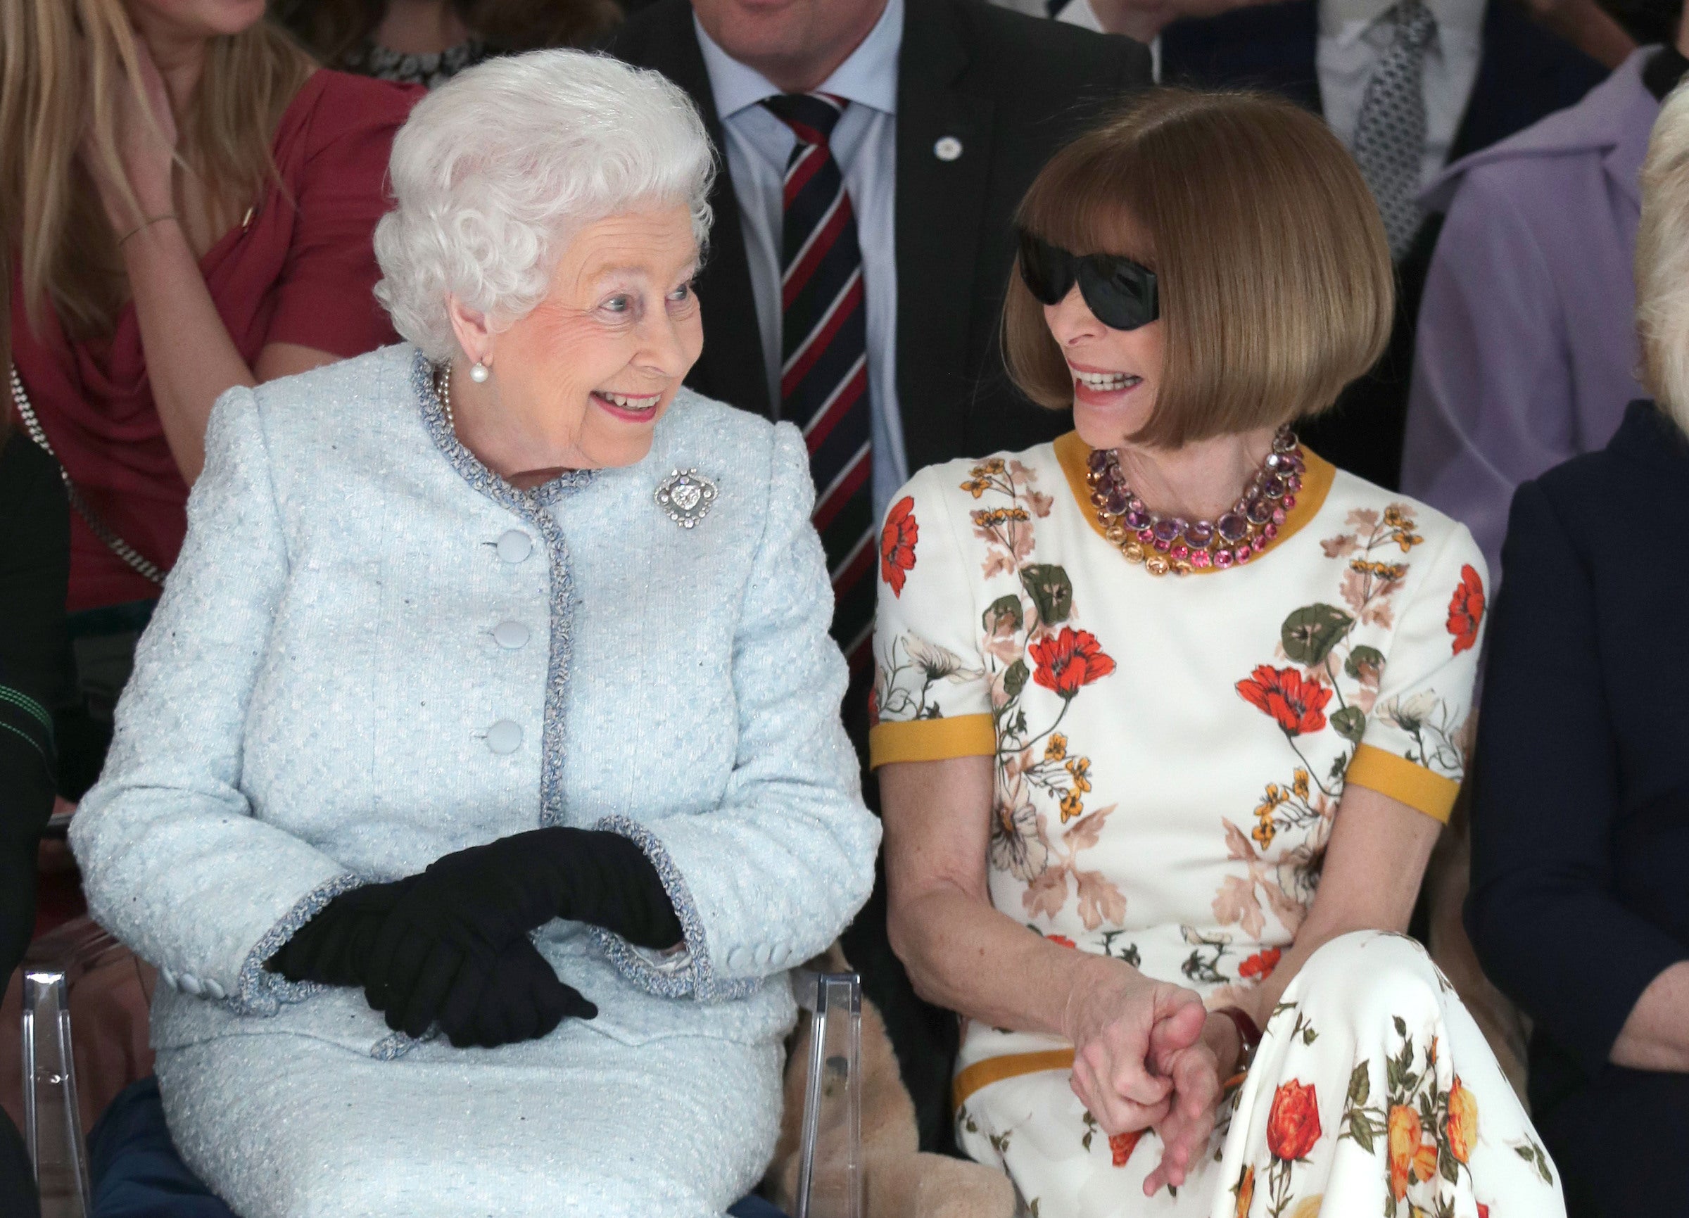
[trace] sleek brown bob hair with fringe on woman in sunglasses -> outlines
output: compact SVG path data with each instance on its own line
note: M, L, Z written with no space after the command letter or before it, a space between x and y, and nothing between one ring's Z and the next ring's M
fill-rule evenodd
M1179 448L1324 411L1390 338L1378 206L1326 125L1279 98L1150 90L1057 152L1015 221L1155 272L1165 355L1137 444ZM1018 269L1003 358L1034 402L1073 405L1073 373Z

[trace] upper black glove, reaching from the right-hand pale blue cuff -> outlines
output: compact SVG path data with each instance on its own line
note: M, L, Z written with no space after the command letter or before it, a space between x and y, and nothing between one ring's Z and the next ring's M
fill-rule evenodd
M476 956L497 956L554 917L601 926L644 948L681 941L657 868L618 833L530 829L436 858L412 878L367 961L370 1003L395 1029L410 1030L443 1010Z

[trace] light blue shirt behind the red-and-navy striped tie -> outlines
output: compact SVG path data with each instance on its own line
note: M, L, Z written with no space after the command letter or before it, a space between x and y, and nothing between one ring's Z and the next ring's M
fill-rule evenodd
M780 411L780 231L785 162L797 137L763 98L780 90L723 51L692 17L709 71L709 90L726 142L728 174L740 204L745 260L762 329L768 400ZM904 46L904 0L887 0L880 20L850 59L823 81L850 105L829 147L844 174L856 213L861 275L868 309L868 405L873 412L873 508L885 514L892 493L909 481L904 419L897 405L897 54ZM709 307L708 302L704 307Z

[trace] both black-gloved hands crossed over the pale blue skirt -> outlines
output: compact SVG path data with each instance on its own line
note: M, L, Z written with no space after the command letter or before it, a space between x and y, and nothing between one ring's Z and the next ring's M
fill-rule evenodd
M662 878L632 840L557 826L341 892L267 968L291 981L361 987L395 1032L421 1037L437 1024L458 1047L491 1049L598 1014L529 938L554 917L642 948L681 941Z

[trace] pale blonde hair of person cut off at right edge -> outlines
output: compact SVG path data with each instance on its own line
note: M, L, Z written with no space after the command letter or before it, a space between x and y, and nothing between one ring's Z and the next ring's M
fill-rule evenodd
M1689 431L1689 90L1665 98L1642 162L1637 225L1642 383Z

